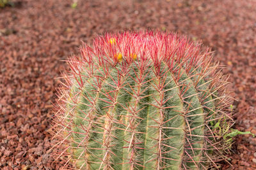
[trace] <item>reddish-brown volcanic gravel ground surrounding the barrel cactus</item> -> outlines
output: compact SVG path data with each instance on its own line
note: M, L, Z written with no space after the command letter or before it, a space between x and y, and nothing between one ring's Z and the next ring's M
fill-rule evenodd
M256 134L255 1L78 0L76 9L71 0L16 4L0 9L0 169L59 169L47 153L47 130L59 84L54 78L67 66L60 60L106 31L159 29L202 39L227 66L239 100L236 128ZM256 169L256 138L237 137L233 151L233 166L223 169Z

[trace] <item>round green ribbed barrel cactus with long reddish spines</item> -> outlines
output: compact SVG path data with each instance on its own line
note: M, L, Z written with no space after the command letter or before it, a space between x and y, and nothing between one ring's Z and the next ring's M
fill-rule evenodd
M56 160L76 169L218 168L232 124L209 49L164 32L98 36L68 60Z

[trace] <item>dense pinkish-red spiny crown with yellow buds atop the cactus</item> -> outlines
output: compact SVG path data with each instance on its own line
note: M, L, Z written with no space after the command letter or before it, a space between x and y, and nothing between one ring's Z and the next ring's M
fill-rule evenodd
M81 49L83 62L93 64L116 64L125 61L130 64L138 58L140 63L151 59L154 64L165 61L187 62L195 66L209 60L211 52L200 52L200 45L189 43L188 38L177 34L163 32L124 32L122 34L105 34L98 36L93 48L84 46ZM198 60L199 59L199 60ZM74 64L72 64L74 65Z

